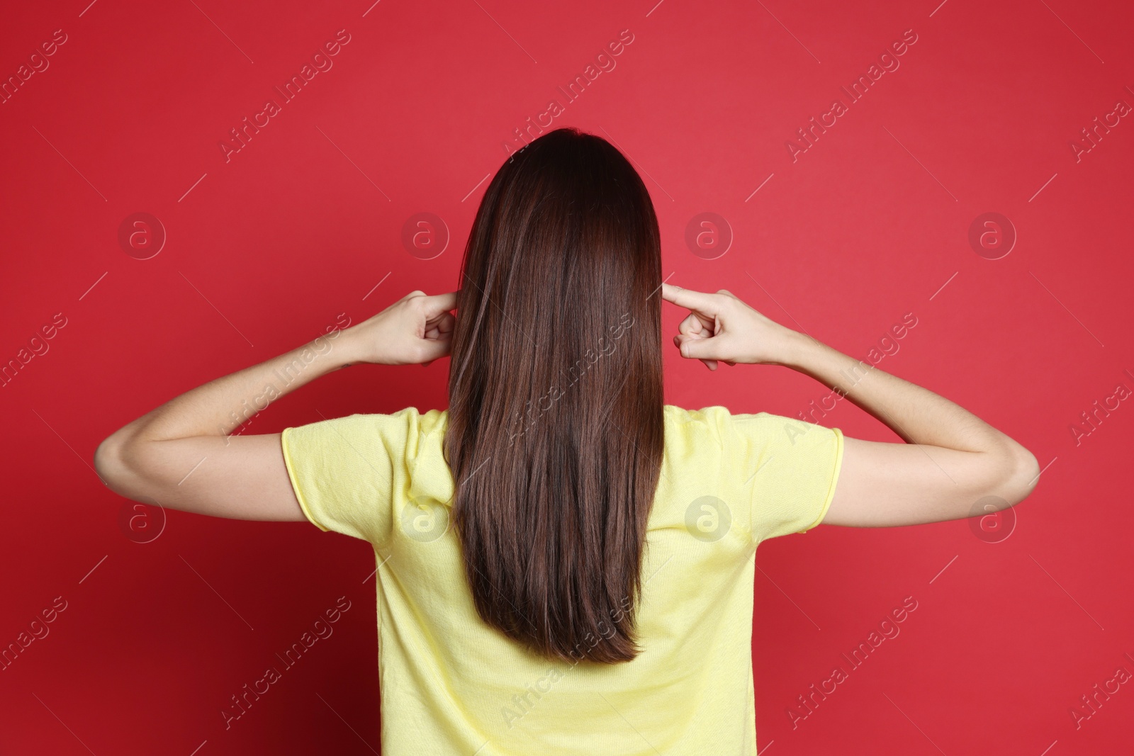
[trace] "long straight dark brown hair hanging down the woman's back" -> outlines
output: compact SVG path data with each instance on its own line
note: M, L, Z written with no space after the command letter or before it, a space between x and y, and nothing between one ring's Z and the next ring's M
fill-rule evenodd
M477 612L548 657L640 652L660 288L650 194L607 141L560 128L503 163L462 264L446 457Z

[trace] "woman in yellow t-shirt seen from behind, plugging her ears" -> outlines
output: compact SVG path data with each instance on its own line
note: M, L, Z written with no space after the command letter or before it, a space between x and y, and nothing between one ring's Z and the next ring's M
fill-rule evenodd
M665 405L662 299L688 311L683 357L795 368L905 443ZM294 380L271 398L356 363L447 355L447 411L227 435L230 410L277 375ZM95 464L138 501L370 542L383 753L468 756L754 754L761 541L964 518L1039 477L1026 449L947 399L728 291L663 283L645 186L574 129L496 175L459 291L413 291L333 341L198 387L108 438Z

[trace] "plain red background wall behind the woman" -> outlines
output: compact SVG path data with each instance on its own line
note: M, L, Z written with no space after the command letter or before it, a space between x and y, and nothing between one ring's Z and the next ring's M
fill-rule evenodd
M9 3L0 75L57 28L67 42L0 105L0 359L53 314L67 324L0 389L0 644L56 596L67 609L0 671L0 751L378 750L369 546L306 524L181 512L135 543L92 455L128 421L314 338L339 313L358 322L412 289L452 289L482 179L551 99L565 108L553 127L607 137L642 172L671 282L728 288L857 357L913 313L880 366L1046 466L997 543L959 520L828 526L760 549L763 753L1064 756L1134 744L1134 685L1078 728L1069 714L1117 668L1134 672L1134 408L1122 402L1077 445L1069 430L1119 382L1134 389L1134 125L1123 118L1078 161L1070 147L1116 101L1134 103L1134 12L938 1ZM226 162L229 129L279 100L272 87L344 28L333 67ZM900 67L847 103L839 87L911 28ZM556 87L621 29L634 41L617 67L567 103ZM835 97L849 112L793 162L785 142ZM999 260L967 240L990 211L1018 233ZM135 212L168 235L150 260L118 243ZM401 243L418 212L451 233L432 260ZM735 235L714 260L685 244L702 212ZM667 306L667 332L679 316ZM669 350L666 360L667 399L686 407L794 416L828 393L785 368L710 374ZM447 369L336 373L247 432L445 407ZM896 440L847 402L823 424ZM352 609L335 635L226 731L230 696L339 596ZM846 666L839 654L906 596L917 609L900 635L793 728L796 697Z

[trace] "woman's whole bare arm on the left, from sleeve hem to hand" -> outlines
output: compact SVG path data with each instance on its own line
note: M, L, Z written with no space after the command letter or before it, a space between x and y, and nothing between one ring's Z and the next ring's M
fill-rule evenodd
M455 292L413 291L363 323L187 391L103 440L94 453L95 472L112 491L135 501L217 517L305 519L281 434L231 433L270 402L331 371L443 357L455 307Z

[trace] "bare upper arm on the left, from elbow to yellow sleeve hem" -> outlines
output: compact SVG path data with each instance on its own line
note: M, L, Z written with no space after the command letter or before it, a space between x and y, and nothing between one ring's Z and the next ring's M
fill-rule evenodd
M111 490L135 501L234 519L306 519L279 433L144 442L111 436L94 464Z

